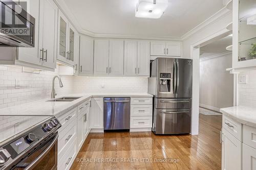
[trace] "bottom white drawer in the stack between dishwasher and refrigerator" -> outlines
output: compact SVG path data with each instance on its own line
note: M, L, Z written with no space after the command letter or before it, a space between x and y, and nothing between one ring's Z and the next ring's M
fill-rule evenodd
M152 116L132 116L130 128L152 128Z

